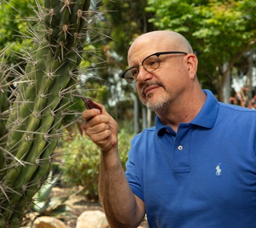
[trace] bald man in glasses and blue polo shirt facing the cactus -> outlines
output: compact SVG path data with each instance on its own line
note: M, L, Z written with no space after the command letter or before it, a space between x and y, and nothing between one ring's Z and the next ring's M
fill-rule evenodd
M110 227L256 227L256 112L218 103L197 80L184 36L139 36L122 78L157 116L132 140L126 173L117 122L85 110L86 134L101 148L99 191Z

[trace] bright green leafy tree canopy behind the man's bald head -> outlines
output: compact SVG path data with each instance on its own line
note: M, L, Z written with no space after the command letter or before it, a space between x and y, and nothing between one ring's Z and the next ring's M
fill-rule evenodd
M200 58L200 79L217 90L224 83L226 70L255 46L255 1L148 0L148 3L146 10L155 13L149 21L159 30L174 30L187 37ZM229 66L224 69L226 62Z

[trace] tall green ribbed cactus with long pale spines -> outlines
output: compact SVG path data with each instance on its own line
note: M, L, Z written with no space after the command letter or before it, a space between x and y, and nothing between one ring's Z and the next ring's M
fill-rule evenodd
M0 227L21 226L45 181L88 40L90 0L43 3L37 2L34 46L10 108L7 77L0 80Z

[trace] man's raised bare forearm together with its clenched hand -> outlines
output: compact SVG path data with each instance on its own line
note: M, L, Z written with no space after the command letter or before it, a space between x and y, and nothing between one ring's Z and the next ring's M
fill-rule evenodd
M137 227L144 217L145 206L133 195L123 172L117 150L117 122L104 106L98 105L101 112L87 109L82 118L86 135L101 148L99 192L107 220L111 227Z

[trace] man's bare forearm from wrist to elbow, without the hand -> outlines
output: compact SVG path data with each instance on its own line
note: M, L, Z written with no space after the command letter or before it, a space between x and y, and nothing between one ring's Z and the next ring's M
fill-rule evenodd
M99 192L110 227L137 227L143 218L117 151L101 155Z

